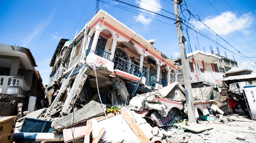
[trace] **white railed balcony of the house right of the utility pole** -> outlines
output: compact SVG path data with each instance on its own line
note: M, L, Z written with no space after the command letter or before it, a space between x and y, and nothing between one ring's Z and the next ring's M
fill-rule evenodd
M219 72L213 71L204 71L201 72L200 70L190 72L190 80L192 82L208 82L214 84L222 84L222 80L224 79L223 74Z

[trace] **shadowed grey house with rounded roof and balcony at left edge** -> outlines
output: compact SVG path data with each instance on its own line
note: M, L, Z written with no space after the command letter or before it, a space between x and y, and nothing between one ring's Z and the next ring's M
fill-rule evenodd
M13 95L16 103L23 103L28 90L39 97L44 86L35 66L29 49L0 44L0 93Z

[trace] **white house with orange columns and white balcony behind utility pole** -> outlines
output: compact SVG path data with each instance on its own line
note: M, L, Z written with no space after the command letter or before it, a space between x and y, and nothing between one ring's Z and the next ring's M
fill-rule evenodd
M215 54L209 54L202 51L194 51L187 54L187 61L190 66L190 80L192 83L208 83L208 84L221 84L223 74L216 72L215 63L222 58ZM181 65L180 57L174 61ZM172 79L172 81L174 81ZM182 70L178 71L178 82L184 83Z

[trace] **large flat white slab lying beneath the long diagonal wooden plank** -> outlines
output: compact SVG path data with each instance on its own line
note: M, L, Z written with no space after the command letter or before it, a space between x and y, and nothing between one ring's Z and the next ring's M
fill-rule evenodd
M136 123L143 130L148 139L151 139L153 136L151 133L152 127L147 121L134 111L128 111L128 113L135 119ZM97 122L96 119L92 119L93 137L98 136L102 127L105 128L105 132L101 136L101 139L105 142L141 142L122 114L117 114L99 122Z

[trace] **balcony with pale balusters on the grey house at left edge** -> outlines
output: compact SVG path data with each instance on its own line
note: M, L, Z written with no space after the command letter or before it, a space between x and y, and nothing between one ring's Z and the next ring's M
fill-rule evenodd
M24 90L24 91L22 91ZM30 85L21 77L0 76L0 92L13 94L16 97L25 97L24 94L30 90Z

